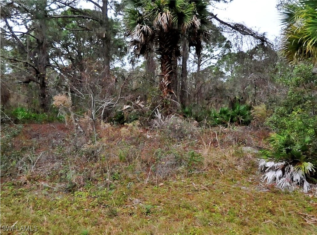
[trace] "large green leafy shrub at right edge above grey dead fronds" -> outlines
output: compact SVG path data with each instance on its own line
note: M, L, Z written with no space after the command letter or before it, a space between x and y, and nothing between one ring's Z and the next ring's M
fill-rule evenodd
M268 138L270 147L260 151L260 157L288 161L306 175L314 172L307 166L317 166L317 76L311 68L301 64L277 79L288 93L266 121L275 132Z

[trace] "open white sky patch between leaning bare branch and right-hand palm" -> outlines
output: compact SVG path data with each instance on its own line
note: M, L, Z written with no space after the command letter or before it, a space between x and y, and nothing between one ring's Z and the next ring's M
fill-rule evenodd
M281 31L276 4L276 0L233 0L231 3L215 4L218 9L213 8L213 13L223 21L245 23L259 33L265 32L273 41Z

